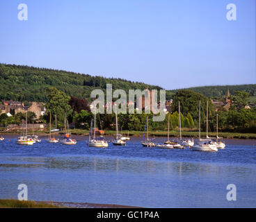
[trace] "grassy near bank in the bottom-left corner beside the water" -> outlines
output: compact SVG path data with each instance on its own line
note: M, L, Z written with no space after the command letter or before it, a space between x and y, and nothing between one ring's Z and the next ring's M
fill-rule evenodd
M32 200L0 200L0 208L58 208L49 203L36 203Z

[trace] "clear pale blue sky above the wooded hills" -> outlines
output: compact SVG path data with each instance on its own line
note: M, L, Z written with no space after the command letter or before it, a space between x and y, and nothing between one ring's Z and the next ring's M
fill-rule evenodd
M166 89L256 83L255 0L1 0L0 27L3 63Z

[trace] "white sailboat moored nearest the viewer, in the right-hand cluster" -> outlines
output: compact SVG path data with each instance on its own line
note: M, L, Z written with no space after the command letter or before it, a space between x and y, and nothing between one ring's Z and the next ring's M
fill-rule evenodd
M216 152L218 151L218 148L213 144L211 141L207 141L205 139L200 138L200 124L201 124L201 101L199 101L199 121L198 121L198 135L199 135L199 141L198 144L194 144L191 146L193 151L208 151L208 152Z

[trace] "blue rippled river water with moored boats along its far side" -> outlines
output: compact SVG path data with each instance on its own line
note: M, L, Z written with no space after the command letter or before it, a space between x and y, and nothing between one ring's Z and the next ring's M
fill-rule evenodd
M205 153L143 148L138 138L126 147L89 148L80 139L75 146L0 142L0 198L17 198L24 183L30 200L256 207L255 142L230 140L225 150ZM237 186L237 201L227 201L228 184Z

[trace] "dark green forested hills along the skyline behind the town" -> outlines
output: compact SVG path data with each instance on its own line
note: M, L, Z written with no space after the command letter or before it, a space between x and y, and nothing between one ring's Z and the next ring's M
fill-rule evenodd
M171 79L170 79L171 80ZM106 89L106 83L112 83L113 89L162 89L156 85L132 82L121 78L104 78L77 74L70 71L44 69L22 65L6 65L0 63L0 101L47 101L47 88L56 87L67 95L90 100L90 92L95 88ZM230 94L235 91L246 91L256 96L254 85L226 85L189 88L201 92L208 97L225 96L227 89ZM166 99L170 99L177 89L168 90Z

